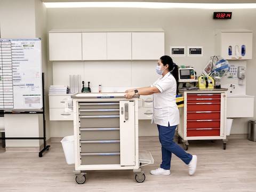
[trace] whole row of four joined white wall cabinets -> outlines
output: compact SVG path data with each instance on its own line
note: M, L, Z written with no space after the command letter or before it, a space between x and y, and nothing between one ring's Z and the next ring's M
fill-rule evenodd
M51 61L158 60L164 55L162 29L51 30Z

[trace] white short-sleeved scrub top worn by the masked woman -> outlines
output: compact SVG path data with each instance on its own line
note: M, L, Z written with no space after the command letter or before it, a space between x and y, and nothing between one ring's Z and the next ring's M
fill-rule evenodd
M178 125L180 123L179 109L176 104L177 83L169 72L161 76L151 86L156 86L160 93L153 94L154 114L151 123L162 126Z

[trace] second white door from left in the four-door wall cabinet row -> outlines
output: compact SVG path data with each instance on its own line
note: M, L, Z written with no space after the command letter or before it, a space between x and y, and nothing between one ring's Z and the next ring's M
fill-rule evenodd
M107 60L107 33L83 33L83 60Z

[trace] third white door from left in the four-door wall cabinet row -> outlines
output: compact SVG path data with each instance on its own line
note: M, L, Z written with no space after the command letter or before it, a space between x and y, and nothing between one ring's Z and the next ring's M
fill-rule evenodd
M132 35L129 32L107 33L108 60L132 59Z

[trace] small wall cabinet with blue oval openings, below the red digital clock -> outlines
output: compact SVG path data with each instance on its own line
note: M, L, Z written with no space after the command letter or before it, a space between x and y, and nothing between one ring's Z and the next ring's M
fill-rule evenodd
M252 59L252 31L218 31L215 35L215 53L228 60Z

